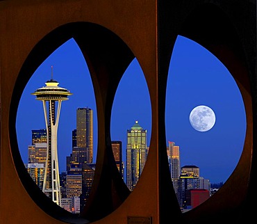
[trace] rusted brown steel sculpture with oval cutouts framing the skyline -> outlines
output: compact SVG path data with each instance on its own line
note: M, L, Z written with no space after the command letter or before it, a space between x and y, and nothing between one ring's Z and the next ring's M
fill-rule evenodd
M181 214L172 189L165 140L165 89L177 35L215 54L237 81L247 115L238 166L222 189ZM70 38L88 64L97 102L97 170L81 216L38 189L19 155L15 119L33 72ZM110 54L110 51L112 54ZM110 159L110 115L124 71L137 58L149 88L152 133L142 177L130 192ZM0 2L0 222L126 224L243 223L256 198L256 1L56 0Z

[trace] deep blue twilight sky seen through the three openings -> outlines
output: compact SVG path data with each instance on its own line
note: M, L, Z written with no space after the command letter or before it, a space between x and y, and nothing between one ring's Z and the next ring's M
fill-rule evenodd
M17 111L17 140L24 163L28 162L31 130L45 128L42 102L31 95L53 79L73 95L62 103L58 127L60 172L72 152L72 130L76 129L76 109L89 107L94 120L94 161L97 154L97 110L94 90L85 59L71 39L47 58L28 81ZM28 106L29 105L29 106ZM190 125L195 106L209 106L216 115L212 129L200 132ZM211 183L226 182L238 163L246 131L242 96L226 67L213 54L192 40L179 36L169 66L166 97L166 139L180 147L181 166L195 165L200 176ZM27 119L29 118L29 119ZM119 83L111 119L112 141L122 141L126 159L126 130L135 120L151 138L151 105L144 74L136 58ZM167 143L168 144L168 143Z

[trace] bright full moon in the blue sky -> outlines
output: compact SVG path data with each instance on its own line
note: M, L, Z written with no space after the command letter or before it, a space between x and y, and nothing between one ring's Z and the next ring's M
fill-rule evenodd
M196 106L189 115L190 124L197 131L208 131L215 125L215 113L208 106Z

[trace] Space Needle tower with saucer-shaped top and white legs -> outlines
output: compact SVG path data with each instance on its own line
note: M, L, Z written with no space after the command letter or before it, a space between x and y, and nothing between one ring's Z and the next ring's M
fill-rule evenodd
M61 103L67 100L68 96L72 95L72 93L66 88L58 86L58 81L53 80L53 66L51 66L51 79L45 84L46 86L38 88L34 93L31 93L36 96L35 99L43 102L44 120L47 127L47 159L44 166L42 191L51 198L53 202L61 206L57 130Z

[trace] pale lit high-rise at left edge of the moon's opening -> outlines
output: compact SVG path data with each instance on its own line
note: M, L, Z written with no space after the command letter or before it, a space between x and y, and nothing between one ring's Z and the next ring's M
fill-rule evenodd
M179 176L181 175L179 145L175 145L174 142L169 141L167 152L169 160L169 171L172 177L172 184L174 187L174 191L177 195Z

